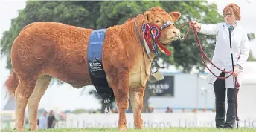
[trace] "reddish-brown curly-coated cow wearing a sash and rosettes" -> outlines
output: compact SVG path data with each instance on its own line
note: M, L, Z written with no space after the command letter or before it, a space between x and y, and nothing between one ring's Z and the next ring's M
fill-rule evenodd
M135 128L143 128L141 108L145 83L150 76L151 62L156 53L147 55L140 37L144 22L158 27L176 22L179 12L167 13L152 7L144 15L106 30L103 42L103 69L118 105L118 130L127 130L126 110L130 96ZM135 22L137 21L137 22ZM135 24L139 34L136 33ZM92 29L74 27L57 22L34 22L19 33L11 49L13 72L5 85L16 97L16 129L23 131L25 107L28 104L29 128L37 130L37 109L51 77L74 88L92 85L87 62L87 47ZM159 42L166 47L179 39L179 30L170 24L161 30ZM161 52L164 52L161 50ZM148 58L149 56L149 58ZM61 91L60 91L61 93Z

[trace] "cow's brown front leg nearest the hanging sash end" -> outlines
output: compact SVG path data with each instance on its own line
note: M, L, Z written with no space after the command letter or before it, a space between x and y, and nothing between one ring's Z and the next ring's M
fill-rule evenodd
M115 102L118 105L118 130L127 130L127 117L126 110L128 108L128 95L129 95L129 77L122 75L113 82L112 89L115 94Z

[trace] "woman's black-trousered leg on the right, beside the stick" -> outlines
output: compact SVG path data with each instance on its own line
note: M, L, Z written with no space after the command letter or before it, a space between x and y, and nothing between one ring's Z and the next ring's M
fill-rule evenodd
M238 93L239 89L237 89ZM227 111L227 119L225 122L225 128L234 128L234 122L236 117L236 105L235 105L235 89L228 88L228 111Z

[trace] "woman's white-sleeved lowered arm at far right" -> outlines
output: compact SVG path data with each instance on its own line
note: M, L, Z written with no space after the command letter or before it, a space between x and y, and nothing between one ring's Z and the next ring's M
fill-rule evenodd
M240 58L237 61L237 65L240 65L241 67L243 67L247 62L249 53L250 53L249 40L248 40L247 34L244 33L242 42L240 44Z

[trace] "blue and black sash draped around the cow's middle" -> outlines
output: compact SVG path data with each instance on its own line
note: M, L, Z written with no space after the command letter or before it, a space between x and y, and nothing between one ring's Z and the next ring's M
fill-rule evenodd
M113 96L113 90L109 88L106 81L106 73L102 66L102 47L105 33L106 29L92 31L87 50L87 62L92 84L95 86L97 93L107 103L110 101L109 98Z

